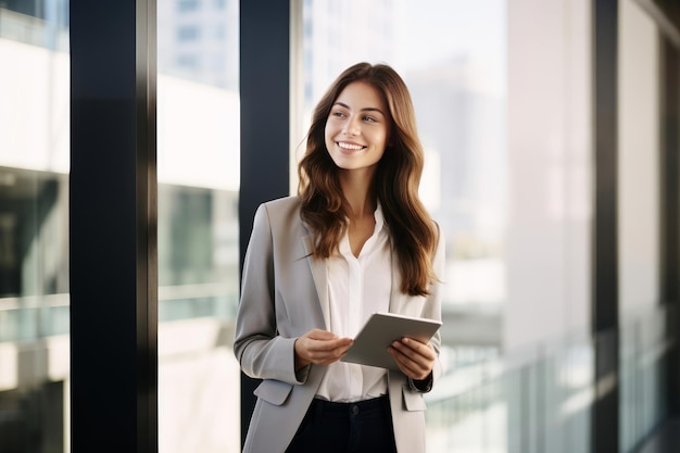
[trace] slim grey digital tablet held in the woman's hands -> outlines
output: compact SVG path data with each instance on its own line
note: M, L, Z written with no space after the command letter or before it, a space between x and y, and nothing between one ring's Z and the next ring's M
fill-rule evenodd
M394 340L415 338L427 343L441 327L441 322L420 317L374 313L354 338L342 362L399 369L387 351Z

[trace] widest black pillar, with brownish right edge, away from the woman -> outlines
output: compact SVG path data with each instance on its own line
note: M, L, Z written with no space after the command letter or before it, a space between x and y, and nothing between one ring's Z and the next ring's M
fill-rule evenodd
M158 452L155 0L71 0L71 438Z

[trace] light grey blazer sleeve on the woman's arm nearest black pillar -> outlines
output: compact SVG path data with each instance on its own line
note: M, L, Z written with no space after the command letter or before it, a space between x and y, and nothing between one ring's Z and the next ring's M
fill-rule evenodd
M267 207L262 204L243 261L234 352L242 372L252 378L302 383L294 370L295 338L284 338L276 328L273 243Z

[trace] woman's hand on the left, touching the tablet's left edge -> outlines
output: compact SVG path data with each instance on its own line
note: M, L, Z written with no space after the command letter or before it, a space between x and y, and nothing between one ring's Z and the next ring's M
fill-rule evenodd
M328 330L310 330L295 340L295 372L311 363L329 365L348 352L354 340Z

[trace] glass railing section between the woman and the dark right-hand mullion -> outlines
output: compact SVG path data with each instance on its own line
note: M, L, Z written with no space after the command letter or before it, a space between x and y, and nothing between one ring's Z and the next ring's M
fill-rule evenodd
M430 452L587 452L592 345L570 336L455 367L427 394Z

